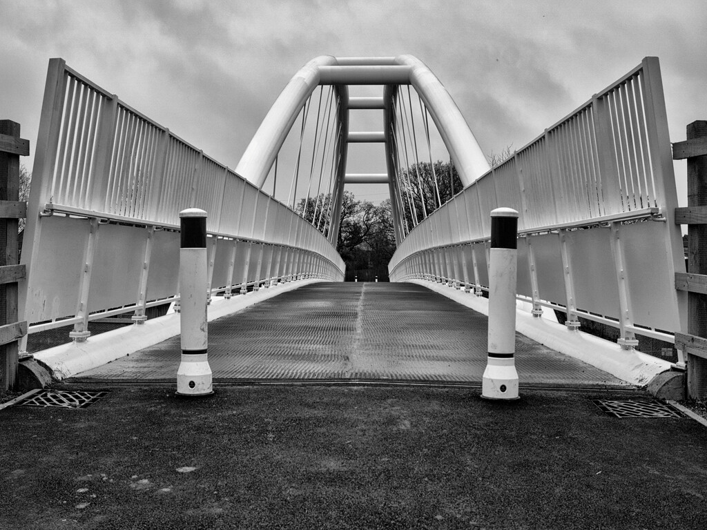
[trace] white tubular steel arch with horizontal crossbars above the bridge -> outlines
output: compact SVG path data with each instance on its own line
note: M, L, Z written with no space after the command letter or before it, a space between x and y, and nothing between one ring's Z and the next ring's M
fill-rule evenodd
M377 58L323 56L312 59L303 66L282 91L235 168L238 175L250 180L257 187L262 187L298 114L315 88L320 85L334 86L336 90L339 104L337 118L342 133L337 137L336 151L339 153L339 159L336 165L332 212L334 225L329 232L330 242L337 241L337 223L346 182L347 147L349 142L354 141L385 143L387 175L378 179L374 175L368 178L358 176L357 180L387 182L390 187L395 239L398 244L404 239L402 195L397 180L399 163L395 156L397 138L394 111L398 86L411 85L415 88L455 162L464 187L489 170L489 163L457 105L422 61L411 55ZM385 90L382 98L349 98L349 86L355 85L380 85L384 86ZM383 131L350 132L351 109L382 110Z

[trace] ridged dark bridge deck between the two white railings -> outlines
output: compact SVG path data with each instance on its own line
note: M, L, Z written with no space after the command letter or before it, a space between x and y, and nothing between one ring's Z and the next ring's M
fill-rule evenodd
M486 317L411 283L315 283L209 324L214 382L394 379L480 384ZM69 382L175 381L177 336ZM521 386L614 386L595 367L516 336Z

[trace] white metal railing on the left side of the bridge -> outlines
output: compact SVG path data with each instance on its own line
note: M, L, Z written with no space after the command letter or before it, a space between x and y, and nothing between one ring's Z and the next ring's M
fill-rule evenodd
M326 238L284 204L51 59L22 261L30 333L178 300L179 212L209 217L209 293L341 280ZM206 286L205 286L206 287Z

